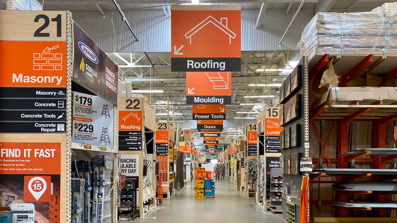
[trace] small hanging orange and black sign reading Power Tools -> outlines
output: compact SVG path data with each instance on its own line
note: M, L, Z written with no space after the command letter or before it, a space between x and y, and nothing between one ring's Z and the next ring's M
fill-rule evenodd
M193 104L193 120L225 120L226 105Z

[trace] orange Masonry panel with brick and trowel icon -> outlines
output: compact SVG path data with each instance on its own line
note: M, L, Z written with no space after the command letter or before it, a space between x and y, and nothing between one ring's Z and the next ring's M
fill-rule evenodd
M66 87L66 42L0 41L0 49L0 87Z

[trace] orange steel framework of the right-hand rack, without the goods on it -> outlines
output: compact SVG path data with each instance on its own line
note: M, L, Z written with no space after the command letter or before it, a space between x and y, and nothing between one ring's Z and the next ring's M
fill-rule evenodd
M346 81L351 80L357 75L362 73L384 73L386 74L384 81L382 81L378 87L384 87L388 80L391 80L397 76L397 72L394 69L395 63L397 62L396 57L385 57L385 55L316 55L308 64L309 78L307 82L312 80L319 72L325 67L325 65L332 61L335 73L342 77L339 78L338 88L346 87ZM306 81L305 81L306 82ZM344 183L354 181L366 181L366 182L386 182L391 179L397 178L397 175L390 173L389 175L377 176L373 170L378 169L392 169L394 165L394 159L397 157L395 152L385 153L385 147L397 147L395 141L395 129L391 129L390 122L397 119L397 101L385 100L378 102L366 102L364 101L352 101L350 104L341 104L337 101L332 101L329 104L322 105L315 109L309 114L310 132L314 135L310 137L310 152L317 150L320 147L319 157L314 158L313 161L316 163L315 168L323 168L323 165L328 168L348 169L337 174L327 174L326 171L318 171L314 174L310 174L310 187L313 185L323 185L332 183ZM368 123L368 128L362 130L362 135L367 135L366 138L358 138L362 141L371 144L368 149L355 150L350 145L351 141L351 126L356 123ZM318 131L318 126L323 128L326 126L329 131L324 137ZM336 131L333 131L335 130ZM320 131L321 132L321 131ZM335 135L336 134L336 135ZM316 138L317 137L317 138ZM364 136L365 137L365 136ZM325 140L326 139L326 140ZM357 140L357 138L356 138ZM311 142L318 141L320 146ZM331 150L329 144L333 144L336 147L336 153ZM379 151L377 151L377 149ZM353 150L353 151L349 151ZM390 150L391 151L391 150ZM334 156L331 156L332 153ZM317 154L317 153L316 153ZM325 156L325 158L323 158ZM361 166L361 173L351 173L349 170L354 169L355 166ZM323 177L334 176L333 178L328 177L323 180ZM318 179L317 179L318 178ZM316 180L315 180L316 179ZM328 189L329 190L329 187ZM387 194L395 194L397 191L388 191ZM366 197L358 197L357 194L368 194ZM372 195L371 195L372 194ZM333 194L333 199L317 199L310 198L310 206L313 209L317 209L316 206L321 204L324 208L333 207L331 206L334 201L348 202L350 200L361 200L367 199L372 200L375 203L382 203L387 200L387 194L381 191L344 191L336 190L336 194ZM360 212L362 216L365 216L372 208L371 207L347 207L343 205L335 206L334 216L336 217L348 217L352 216L352 213ZM331 209L330 209L331 210ZM355 210L355 212L353 212ZM372 210L368 216L372 217L386 217L389 210L385 208L376 208ZM356 214L359 215L359 214Z

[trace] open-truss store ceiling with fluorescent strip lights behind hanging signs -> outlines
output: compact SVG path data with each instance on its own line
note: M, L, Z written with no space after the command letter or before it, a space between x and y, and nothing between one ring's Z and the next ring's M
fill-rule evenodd
M304 9L313 9L314 12L362 12L371 11L373 8L381 6L388 1L378 0L306 0ZM190 0L118 0L117 3L123 11L133 10L162 10L165 15L169 15L170 6L173 4L189 4ZM273 1L249 1L249 0L200 0L206 4L240 4L243 10L249 9L284 9L295 12L301 1L299 0L273 0ZM50 0L43 2L44 10L69 10L69 11L116 11L117 8L112 0L102 1L81 1L81 0ZM291 12L290 12L291 13ZM260 15L258 15L260 16ZM287 29L287 27L285 27ZM117 54L117 55L116 55ZM163 90L161 94L145 94L149 97L152 104L165 104L167 99L174 106L174 113L182 113L174 120L192 121L192 106L186 105L186 74L184 72L171 72L171 53L170 52L120 52L109 53L109 57L119 65L134 63L134 67L121 67L120 78L132 81L133 89ZM286 68L288 65L294 66L298 61L299 52L297 50L287 51L242 51L241 52L241 72L232 73L232 104L226 105L226 118L235 122L237 117L253 117L256 114L241 114L237 112L260 111L261 105L240 105L241 103L264 103L269 104L268 99L244 98L247 95L276 95L277 87L251 87L250 83L281 83L283 78L289 73L280 71L257 72L258 68ZM149 61L151 60L151 62ZM151 66L151 64L154 65ZM262 101L263 100L263 101ZM165 112L166 107L156 106L156 113ZM164 120L165 117L157 117ZM240 132L239 132L240 131ZM219 147L223 143L230 142L231 138L236 138L241 129L226 129L220 139ZM233 135L233 136L227 136ZM200 136L196 133L196 138ZM201 140L201 138L200 138ZM198 145L199 141L196 144ZM217 151L218 152L218 151Z

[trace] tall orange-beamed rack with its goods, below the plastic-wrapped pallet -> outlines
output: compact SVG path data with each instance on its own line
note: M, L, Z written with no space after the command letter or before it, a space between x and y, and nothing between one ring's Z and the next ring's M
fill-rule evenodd
M322 75L325 65L328 63L329 67L331 62L334 73L339 77L338 86L310 104L310 153L316 157L313 159L314 169L319 169L310 174L312 194L317 194L319 190L326 194L336 183L358 181L370 185L371 182L389 182L397 178L393 172L395 170L392 170L394 158L397 157L393 149L397 146L395 128L392 127L397 119L396 89L385 87L393 86L397 58L371 54L316 55L308 64L308 80ZM370 83L370 74L380 75L378 82L371 83L375 87L361 87L361 81L354 83L354 79L360 77ZM327 133L321 133L324 131ZM323 166L326 168L323 169ZM390 209L376 208L374 204L368 204L365 208L341 204L368 200L382 203L391 201L388 194L392 193L395 191L381 192L368 188L362 191L335 190L332 196L316 195L310 198L314 213L311 219L329 216L326 212L333 209L336 209L331 215L334 217L360 216L365 220L370 216L390 216ZM320 203L322 209L318 209Z

